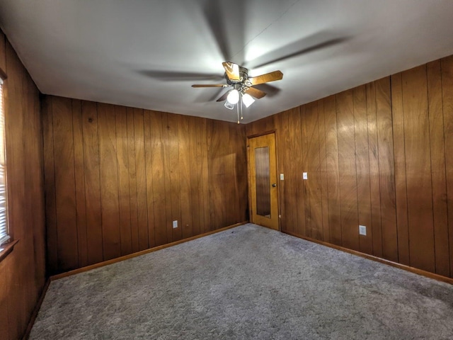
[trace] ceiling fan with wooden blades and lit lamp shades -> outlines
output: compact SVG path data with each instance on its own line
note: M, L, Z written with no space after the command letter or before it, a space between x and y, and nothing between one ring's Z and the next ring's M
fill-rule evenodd
M239 123L239 108L242 111L243 103L246 108L251 106L255 101L253 97L259 99L263 98L266 93L264 91L254 88L254 85L268 83L283 78L280 70L261 74L257 77L248 77L248 69L241 67L234 62L222 62L225 69L226 84L193 84L192 87L232 87L231 90L223 94L217 101L225 101L225 107L233 110L234 105L239 103L238 108L238 123ZM242 119L242 115L241 115Z

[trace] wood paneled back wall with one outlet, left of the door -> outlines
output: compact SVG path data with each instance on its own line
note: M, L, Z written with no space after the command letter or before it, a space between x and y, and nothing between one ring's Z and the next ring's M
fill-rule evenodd
M42 118L50 273L248 219L243 125L55 96Z

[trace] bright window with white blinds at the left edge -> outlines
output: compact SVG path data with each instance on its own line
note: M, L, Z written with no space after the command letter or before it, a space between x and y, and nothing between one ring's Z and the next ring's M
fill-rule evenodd
M0 78L0 245L8 242L8 209L6 200L6 152L3 80Z

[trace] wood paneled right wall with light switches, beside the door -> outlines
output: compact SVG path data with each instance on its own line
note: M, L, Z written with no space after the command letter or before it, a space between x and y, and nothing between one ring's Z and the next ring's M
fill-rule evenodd
M453 57L250 123L247 135L274 129L282 231L453 277Z

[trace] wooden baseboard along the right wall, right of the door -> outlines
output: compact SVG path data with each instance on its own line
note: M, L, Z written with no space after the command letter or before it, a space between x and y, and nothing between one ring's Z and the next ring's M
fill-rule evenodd
M380 262L380 263L388 264L389 266L400 268L400 269L403 269L404 271L410 271L411 273L415 273L415 274L418 274L418 275L421 275L421 276L426 276L427 278L433 278L435 280L439 280L439 281L442 281L442 282L445 282L445 283L449 283L450 285L453 285L453 278L447 278L447 276L442 276L442 275L439 275L439 274L431 273L430 271L423 271L422 269L414 268L414 267L411 267L411 266L406 266L406 265L401 264L401 263L397 263L397 262L394 262L394 261L389 261L389 260L386 260L386 259L382 259L380 257L369 255L369 254L365 254L365 253L362 253L360 251L348 249L348 248L345 248L343 246L337 246L336 244L331 244L331 243L328 243L328 242L319 241L318 239L311 239L310 237L305 237L305 236L296 234L295 232L287 232L287 231L284 231L284 230L282 230L282 232L284 232L285 234L289 234L291 236L294 236L294 237L298 237L299 239L306 239L309 242L314 242L314 243L317 243L317 244L321 244L323 246L328 246L329 248L337 249L337 250L340 250L340 251L345 251L346 253L349 253L349 254L357 255L357 256L363 257L365 259L372 260L372 261L377 261L377 262Z

